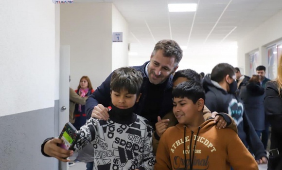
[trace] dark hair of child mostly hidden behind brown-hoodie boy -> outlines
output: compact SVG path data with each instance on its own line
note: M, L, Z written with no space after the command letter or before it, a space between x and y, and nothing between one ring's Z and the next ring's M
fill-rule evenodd
M199 83L202 82L201 76L197 72L191 69L179 70L175 72L175 75L173 76L172 81L175 82L176 79L179 77L184 77L184 78L187 78L188 80L193 80Z

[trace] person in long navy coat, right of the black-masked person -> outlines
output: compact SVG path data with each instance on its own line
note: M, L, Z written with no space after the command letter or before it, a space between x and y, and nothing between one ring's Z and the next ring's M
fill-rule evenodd
M247 86L242 87L239 97L244 102L246 113L259 138L264 130L264 88L260 85L260 76L253 75Z

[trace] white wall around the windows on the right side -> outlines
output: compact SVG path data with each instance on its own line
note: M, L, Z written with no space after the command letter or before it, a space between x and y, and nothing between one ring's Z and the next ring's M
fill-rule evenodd
M238 65L249 73L248 53L259 49L259 65L267 68L266 46L282 39L282 10L238 41ZM267 73L266 73L267 75Z

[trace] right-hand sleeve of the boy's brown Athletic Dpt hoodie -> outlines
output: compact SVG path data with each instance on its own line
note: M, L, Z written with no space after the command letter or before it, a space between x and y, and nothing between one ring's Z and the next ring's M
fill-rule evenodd
M229 130L226 142L228 161L234 170L259 170L256 160L236 133Z

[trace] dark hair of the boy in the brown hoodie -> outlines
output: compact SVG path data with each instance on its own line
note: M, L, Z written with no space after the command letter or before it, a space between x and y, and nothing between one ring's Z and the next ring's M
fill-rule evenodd
M195 104L200 98L206 99L205 90L200 82L194 80L185 81L176 86L172 92L173 97L184 98L192 100Z

